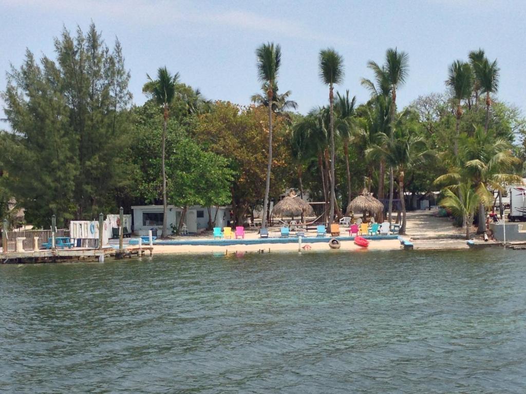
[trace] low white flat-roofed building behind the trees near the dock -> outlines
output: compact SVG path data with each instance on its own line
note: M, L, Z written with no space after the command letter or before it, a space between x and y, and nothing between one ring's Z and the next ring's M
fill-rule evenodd
M157 235L161 236L163 231L163 205L134 205L133 228L136 235L148 235L148 230L157 229ZM230 207L220 206L217 210L213 206L210 208L212 222L216 219L215 227L226 227L230 222ZM168 232L172 234L179 225L179 220L183 208L175 205L168 205ZM186 217L183 218L186 230L190 234L197 234L205 230L208 226L208 209L200 205L189 206L186 210Z

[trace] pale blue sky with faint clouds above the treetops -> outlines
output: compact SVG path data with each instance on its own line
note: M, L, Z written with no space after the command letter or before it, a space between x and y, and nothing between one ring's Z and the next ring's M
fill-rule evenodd
M328 103L318 73L319 51L327 47L344 58L345 80L336 90L349 89L359 103L369 97L360 85L372 78L367 62L382 63L387 48L406 51L409 77L397 91L402 107L443 92L449 65L483 48L501 68L498 97L524 112L524 20L525 0L0 0L0 90L26 48L54 58L53 39L64 27L86 31L93 21L108 46L120 40L137 105L146 100L146 74L161 66L208 99L247 105L260 89L255 50L274 42L282 53L279 89L292 91L301 113Z

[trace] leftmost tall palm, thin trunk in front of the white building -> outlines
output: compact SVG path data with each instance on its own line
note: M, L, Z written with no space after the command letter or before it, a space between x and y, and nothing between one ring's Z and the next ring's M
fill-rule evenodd
M168 203L166 200L166 126L170 117L169 107L175 97L175 85L179 81L179 73L171 75L165 67L159 67L157 70L157 79L153 80L148 74L147 84L143 91L149 92L159 106L163 108L163 135L161 137L161 171L163 172L163 237L168 235Z

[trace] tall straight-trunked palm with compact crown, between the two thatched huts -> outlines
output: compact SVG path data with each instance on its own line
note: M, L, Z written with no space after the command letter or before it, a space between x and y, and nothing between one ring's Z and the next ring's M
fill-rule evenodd
M334 146L334 94L333 85L343 81L343 57L332 48L320 50L320 77L325 85L329 85L329 111L330 111L330 208L329 225L334 219L334 208L336 203L336 184L335 184L335 146Z

